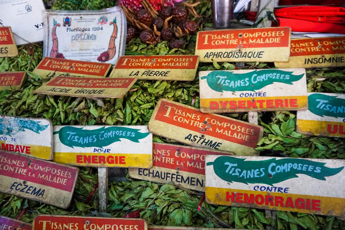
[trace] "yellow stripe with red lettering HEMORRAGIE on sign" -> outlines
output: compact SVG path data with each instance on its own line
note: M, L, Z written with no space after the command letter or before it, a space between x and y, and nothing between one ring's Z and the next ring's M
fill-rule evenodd
M262 207L264 209L332 216L341 216L345 211L345 198L214 187L206 187L205 191L207 201L213 204Z

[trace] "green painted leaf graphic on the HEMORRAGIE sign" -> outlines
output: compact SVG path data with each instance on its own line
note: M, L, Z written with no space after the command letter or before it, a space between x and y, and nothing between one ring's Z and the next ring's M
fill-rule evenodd
M269 159L262 161L245 161L243 158L221 156L214 162L213 170L221 179L228 182L262 183L273 186L290 178L298 177L297 174L305 174L318 180L326 180L325 177L333 176L341 172L344 167L328 168L325 163L296 159Z

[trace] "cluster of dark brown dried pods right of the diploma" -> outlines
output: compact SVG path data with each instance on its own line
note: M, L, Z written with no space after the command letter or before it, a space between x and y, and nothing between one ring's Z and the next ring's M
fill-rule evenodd
M143 43L155 44L160 40L169 41L169 48L183 48L184 40L179 38L194 34L197 30L197 23L193 20L188 20L188 13L194 17L199 16L194 7L200 2L194 4L183 2L175 7L163 6L160 11L156 11L148 0L142 0L143 9L138 12L123 6L127 22L130 26L127 27L127 42L135 37L136 30L141 30L140 40Z

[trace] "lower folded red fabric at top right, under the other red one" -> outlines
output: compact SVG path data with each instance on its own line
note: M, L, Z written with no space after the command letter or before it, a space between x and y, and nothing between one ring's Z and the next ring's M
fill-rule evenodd
M279 18L277 21L280 27L290 27L291 31L296 32L323 32L323 33L342 33L345 34L345 26L334 23L310 22L305 20Z

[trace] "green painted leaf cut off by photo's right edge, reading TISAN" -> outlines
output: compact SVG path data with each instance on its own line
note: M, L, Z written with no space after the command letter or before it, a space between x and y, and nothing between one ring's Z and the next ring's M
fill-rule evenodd
M309 111L317 116L345 118L345 99L313 93L308 96Z

